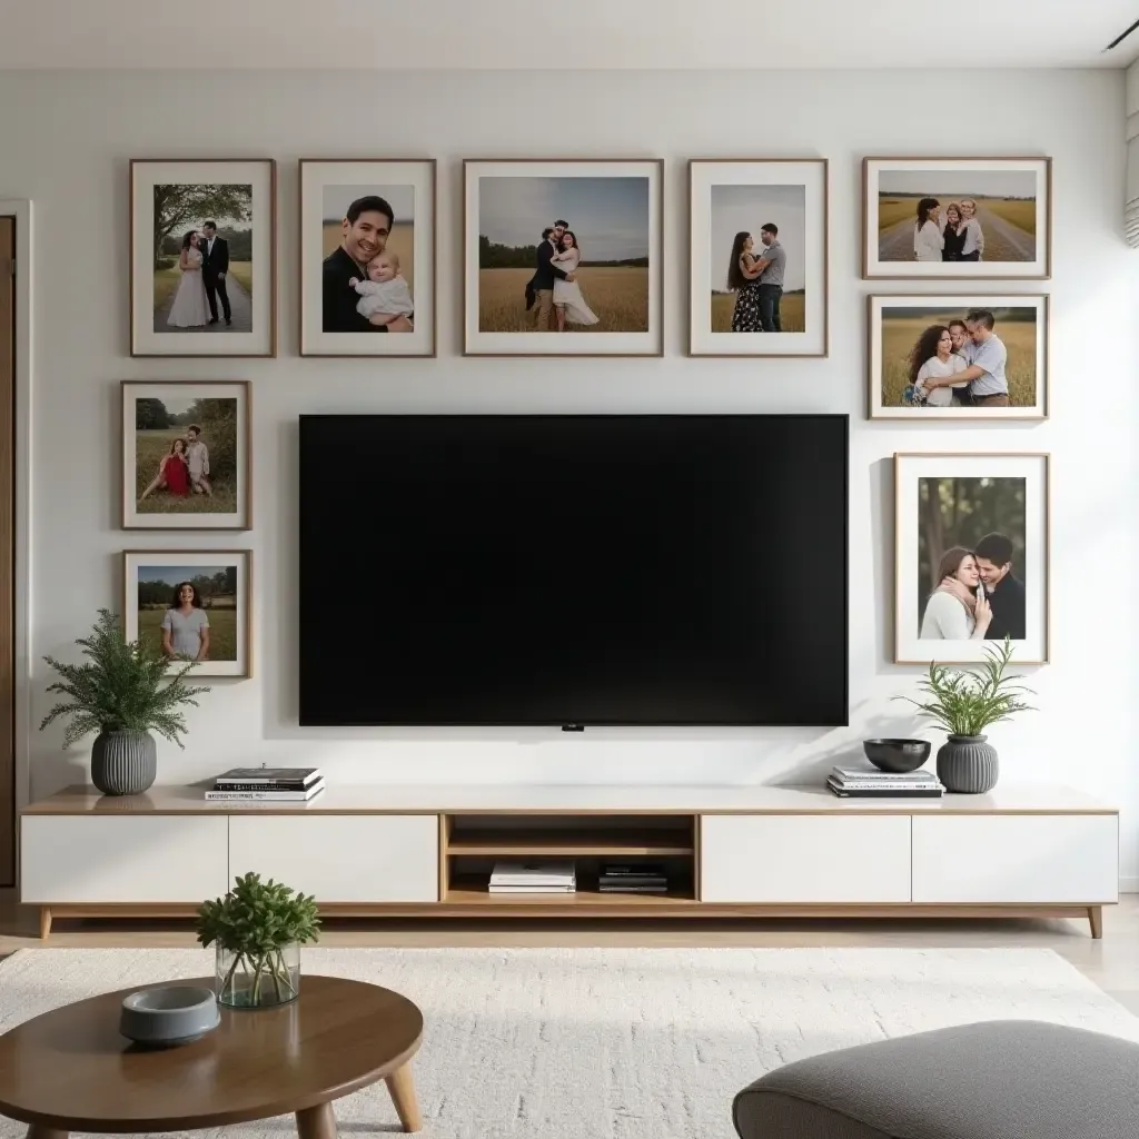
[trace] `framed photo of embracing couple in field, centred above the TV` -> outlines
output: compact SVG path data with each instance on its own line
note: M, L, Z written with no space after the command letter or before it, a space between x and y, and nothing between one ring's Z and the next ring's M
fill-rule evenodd
M464 162L465 355L663 355L659 158Z

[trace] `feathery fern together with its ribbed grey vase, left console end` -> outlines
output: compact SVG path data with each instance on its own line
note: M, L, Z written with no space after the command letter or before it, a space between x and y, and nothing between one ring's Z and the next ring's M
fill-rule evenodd
M139 795L158 773L158 751L151 731L182 747L186 719L181 705L194 704L205 687L191 687L188 662L171 671L159 645L128 641L118 617L99 609L91 633L75 641L88 657L87 664L60 664L43 659L59 673L48 686L66 699L57 704L40 724L42 731L60 716L69 716L64 748L89 732L98 736L91 745L91 782L105 795Z

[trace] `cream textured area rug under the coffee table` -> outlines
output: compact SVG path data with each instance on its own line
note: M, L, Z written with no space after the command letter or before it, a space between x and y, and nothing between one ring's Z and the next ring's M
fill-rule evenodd
M0 1031L212 962L200 950L24 950L0 962ZM1139 1019L1051 950L313 949L303 968L374 981L424 1010L427 1139L731 1139L732 1096L771 1068L970 1021L1139 1041ZM342 1136L399 1130L382 1083L336 1114ZM296 1134L290 1116L226 1132ZM0 1120L2 1139L23 1134Z

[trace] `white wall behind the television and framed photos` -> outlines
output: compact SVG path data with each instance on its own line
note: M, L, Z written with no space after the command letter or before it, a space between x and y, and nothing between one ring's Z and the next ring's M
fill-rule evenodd
M891 656L891 456L1026 449L1054 456L1051 650L1032 670L1041 711L993 730L1002 778L1051 779L1124 809L1124 875L1139 874L1132 759L1139 634L1136 254L1121 238L1123 76L1107 72L0 74L0 197L36 207L33 424L33 662L66 655L95 611L117 606L124 547L256 550L256 674L214 682L191 710L187 751L162 745L159 779L235 761L318 762L341 781L795 781L910 731L920 670ZM1052 418L1042 425L870 424L866 304L906 282L859 280L865 154L1049 154L1055 158ZM271 361L131 360L126 161L276 157L280 174L281 355ZM296 159L440 159L441 351L436 360L296 357ZM459 159L663 156L663 360L458 357ZM827 360L688 360L685 159L831 162ZM939 286L923 286L929 292ZM993 286L995 287L995 286ZM978 286L983 290L984 285ZM1035 282L1024 292L1039 290ZM256 528L124 533L115 413L123 378L254 383ZM296 417L303 411L849 411L851 727L842 730L330 731L296 726ZM787 572L794 580L794 566ZM33 688L48 673L34 663ZM84 749L34 731L31 793L82 779Z

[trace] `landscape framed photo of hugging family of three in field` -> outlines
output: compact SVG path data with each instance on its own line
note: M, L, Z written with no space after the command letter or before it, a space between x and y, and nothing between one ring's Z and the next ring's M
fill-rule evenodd
M1048 297L869 297L871 419L1044 419Z

